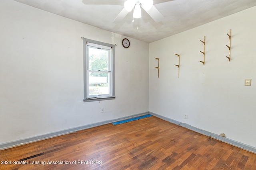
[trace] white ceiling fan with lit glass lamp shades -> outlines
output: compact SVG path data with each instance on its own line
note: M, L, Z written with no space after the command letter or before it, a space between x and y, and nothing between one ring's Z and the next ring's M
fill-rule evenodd
M168 2L172 0L154 0L154 4ZM98 2L98 3L96 3ZM160 22L164 16L153 5L153 0L83 0L84 4L116 4L124 5L122 11L116 16L113 23L120 23L124 17L133 10L134 18L141 18L141 7L148 13L148 15L155 21Z

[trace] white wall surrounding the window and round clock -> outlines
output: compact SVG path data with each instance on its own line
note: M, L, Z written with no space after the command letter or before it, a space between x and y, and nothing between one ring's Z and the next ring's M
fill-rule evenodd
M148 43L11 0L0 23L0 144L148 111ZM117 44L115 100L83 102L80 37Z

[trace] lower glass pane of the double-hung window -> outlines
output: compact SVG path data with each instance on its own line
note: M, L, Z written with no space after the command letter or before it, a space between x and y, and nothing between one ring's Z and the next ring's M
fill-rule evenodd
M89 95L110 94L110 73L89 72Z

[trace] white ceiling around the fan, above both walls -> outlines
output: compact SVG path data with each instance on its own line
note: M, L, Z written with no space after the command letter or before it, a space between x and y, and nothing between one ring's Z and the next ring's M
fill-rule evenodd
M125 0L15 1L148 43L256 6L256 0L154 0L164 20L156 23L142 10L137 30L132 12L122 22L112 23L124 8Z

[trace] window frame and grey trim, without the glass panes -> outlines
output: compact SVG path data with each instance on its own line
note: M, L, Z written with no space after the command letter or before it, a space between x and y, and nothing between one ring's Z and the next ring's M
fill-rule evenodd
M114 56L115 56L115 45L102 43L100 41L94 41L91 39L83 38L84 40L84 102L100 101L100 100L112 100L115 99L114 92ZM88 47L100 48L109 51L108 57L108 71L97 71L89 70L89 56ZM109 73L108 87L109 94L102 95L89 95L89 73L90 72L104 72Z

